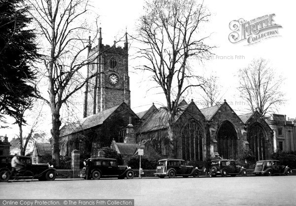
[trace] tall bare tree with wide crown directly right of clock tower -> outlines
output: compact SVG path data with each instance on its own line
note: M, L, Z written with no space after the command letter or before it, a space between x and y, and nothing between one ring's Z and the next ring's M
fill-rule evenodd
M189 88L201 85L189 60L210 55L212 47L204 42L208 36L199 36L200 26L208 21L210 13L196 0L153 0L145 9L146 15L137 26L136 39L142 43L139 57L145 62L139 69L151 72L165 95L168 133L173 142L180 98Z

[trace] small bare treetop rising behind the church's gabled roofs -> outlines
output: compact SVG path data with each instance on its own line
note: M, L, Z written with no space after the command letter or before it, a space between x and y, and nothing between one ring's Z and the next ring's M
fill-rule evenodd
M202 88L203 93L200 93L201 101L200 104L204 107L214 106L221 102L221 85L218 82L219 77L211 74L211 76L206 80Z

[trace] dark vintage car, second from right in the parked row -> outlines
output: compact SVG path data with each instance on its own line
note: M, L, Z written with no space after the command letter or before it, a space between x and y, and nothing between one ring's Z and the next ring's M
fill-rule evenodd
M237 165L234 160L212 160L210 166L210 176L221 175L223 177L227 176L236 176L241 174L242 176L247 175L247 171L244 167Z

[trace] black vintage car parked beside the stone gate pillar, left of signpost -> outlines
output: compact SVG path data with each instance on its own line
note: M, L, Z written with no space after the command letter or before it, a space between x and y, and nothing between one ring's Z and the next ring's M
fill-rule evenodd
M118 166L116 159L89 158L84 161L85 167L80 171L80 178L100 179L101 177L117 177L118 179L132 179L134 171L127 166Z

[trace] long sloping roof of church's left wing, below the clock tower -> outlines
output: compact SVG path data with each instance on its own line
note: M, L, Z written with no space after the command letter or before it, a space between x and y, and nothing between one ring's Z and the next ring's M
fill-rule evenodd
M98 125L101 125L104 123L105 120L107 120L111 114L120 106L127 106L126 103L121 103L117 106L114 106L110 109L104 110L102 112L99 112L97 114L90 115L88 117L85 117L81 120L78 120L77 122L70 123L68 125L65 125L60 130L60 137L64 137L67 135L71 135L73 133L83 131ZM128 107L128 106L127 106ZM132 110L131 110L132 111ZM133 112L133 111L132 111Z

